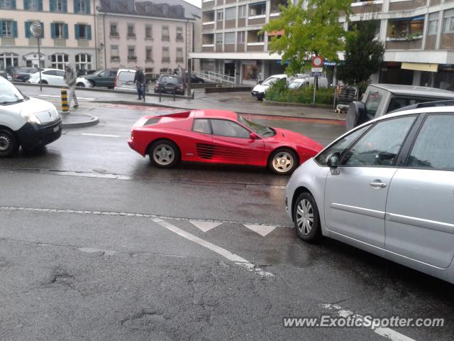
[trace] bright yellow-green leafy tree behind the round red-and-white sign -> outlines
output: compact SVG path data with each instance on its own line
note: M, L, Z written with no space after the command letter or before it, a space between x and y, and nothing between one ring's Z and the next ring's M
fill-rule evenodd
M308 0L303 4L299 0L297 4L288 1L287 6L279 6L279 18L263 26L262 31L283 31L272 37L268 47L270 52L282 55L283 63L289 63L289 75L301 72L314 55L338 59L338 51L344 50L345 36L339 17L348 18L351 3L352 0Z

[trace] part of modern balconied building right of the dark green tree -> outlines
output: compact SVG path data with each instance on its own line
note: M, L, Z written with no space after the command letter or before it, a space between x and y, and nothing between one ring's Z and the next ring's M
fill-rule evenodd
M352 10L352 21L377 20L385 52L376 82L454 90L453 0L375 0Z

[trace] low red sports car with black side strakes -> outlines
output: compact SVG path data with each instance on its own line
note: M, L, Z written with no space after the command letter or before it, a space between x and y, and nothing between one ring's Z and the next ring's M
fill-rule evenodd
M193 110L135 122L129 146L160 168L179 161L268 166L289 174L323 148L306 136L261 126L235 112Z

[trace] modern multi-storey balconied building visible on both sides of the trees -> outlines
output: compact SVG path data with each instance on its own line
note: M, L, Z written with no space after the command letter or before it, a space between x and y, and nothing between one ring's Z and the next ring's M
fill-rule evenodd
M259 34L279 17L284 0L203 0L201 70L231 75L237 83L253 84L281 73L281 58L268 50L277 33ZM375 0L352 4L351 21L376 20L377 38L385 46L376 82L454 86L454 1ZM345 23L345 18L339 18ZM345 23L345 29L348 24ZM259 74L260 72L260 74Z

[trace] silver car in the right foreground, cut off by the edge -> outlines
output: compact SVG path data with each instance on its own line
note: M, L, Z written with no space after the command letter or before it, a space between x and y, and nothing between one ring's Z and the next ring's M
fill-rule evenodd
M286 189L299 237L338 239L454 283L454 106L387 114L302 164Z

